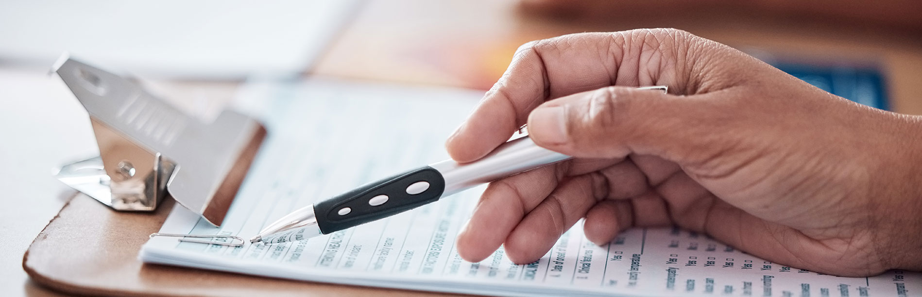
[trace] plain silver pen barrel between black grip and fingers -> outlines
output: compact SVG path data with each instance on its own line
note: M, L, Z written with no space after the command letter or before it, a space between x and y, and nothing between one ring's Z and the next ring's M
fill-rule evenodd
M446 197L467 188L569 158L571 156L540 147L531 138L522 137L502 143L487 156L471 163L458 164L455 160L448 159L430 166L444 177L445 190L442 197Z

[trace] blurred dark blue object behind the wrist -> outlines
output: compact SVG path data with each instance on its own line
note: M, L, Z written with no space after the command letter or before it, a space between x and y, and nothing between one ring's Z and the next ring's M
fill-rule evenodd
M836 96L876 109L890 109L883 75L877 69L800 63L773 63L773 66Z

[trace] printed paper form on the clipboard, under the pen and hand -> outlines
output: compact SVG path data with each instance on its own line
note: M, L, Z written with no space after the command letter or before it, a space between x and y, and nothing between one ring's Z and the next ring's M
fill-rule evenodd
M176 207L160 232L249 238L313 200L443 160L444 138L480 96L323 80L256 93L272 100L270 134L224 225L212 227ZM469 263L458 256L455 235L481 192L467 190L383 221L286 244L228 247L155 237L140 258L294 280L508 296L922 294L919 273L820 275L670 228L633 229L596 246L577 224L534 263L514 265L502 249Z

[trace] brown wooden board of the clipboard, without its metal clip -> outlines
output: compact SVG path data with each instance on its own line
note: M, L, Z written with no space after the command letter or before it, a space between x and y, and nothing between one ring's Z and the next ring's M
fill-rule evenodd
M93 296L460 296L142 263L138 251L174 203L165 200L150 213L118 212L77 194L35 238L22 267L44 287Z

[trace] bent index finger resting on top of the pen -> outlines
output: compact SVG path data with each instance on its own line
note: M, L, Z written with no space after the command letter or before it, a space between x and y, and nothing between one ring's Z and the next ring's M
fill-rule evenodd
M448 154L467 163L490 153L548 99L614 85L685 88L677 68L686 67L675 62L677 52L684 51L677 32L580 33L526 43L477 109L449 137Z

